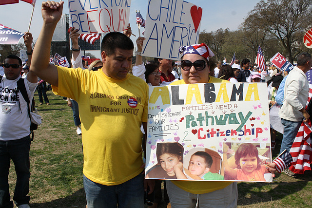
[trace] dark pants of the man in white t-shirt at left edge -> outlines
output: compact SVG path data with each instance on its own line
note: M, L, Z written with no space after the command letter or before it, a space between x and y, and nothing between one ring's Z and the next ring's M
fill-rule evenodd
M29 204L29 149L30 136L18 140L0 141L0 208L13 208L10 201L8 175L12 159L17 175L13 200L17 206Z

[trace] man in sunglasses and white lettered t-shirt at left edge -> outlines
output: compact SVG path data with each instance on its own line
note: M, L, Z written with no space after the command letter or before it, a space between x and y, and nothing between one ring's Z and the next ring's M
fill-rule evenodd
M24 42L27 48L30 65L32 55L32 35L25 33ZM29 100L33 99L37 87L37 76L27 73L22 79L21 59L15 55L8 56L3 64L4 76L0 83L0 207L13 208L10 201L8 175L12 159L17 174L13 200L18 208L29 208L29 150L30 118L27 102L17 89L20 79L25 84Z

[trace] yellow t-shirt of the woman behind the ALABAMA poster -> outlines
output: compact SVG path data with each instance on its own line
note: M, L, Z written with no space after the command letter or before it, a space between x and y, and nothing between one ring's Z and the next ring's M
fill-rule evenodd
M229 81L209 76L208 83L214 82L229 82ZM185 82L183 79L181 79L171 83L170 85L178 85L178 84L185 84ZM232 182L222 182L222 181L171 181L171 182L180 189L195 194L213 192L215 190L224 189L225 187L232 184Z

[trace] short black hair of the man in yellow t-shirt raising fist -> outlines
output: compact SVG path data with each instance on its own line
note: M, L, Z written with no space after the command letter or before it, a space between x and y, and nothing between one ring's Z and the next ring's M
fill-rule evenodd
M102 39L101 53L105 51L106 56L112 56L115 53L115 49L133 50L134 45L132 40L119 32L111 32L104 36Z

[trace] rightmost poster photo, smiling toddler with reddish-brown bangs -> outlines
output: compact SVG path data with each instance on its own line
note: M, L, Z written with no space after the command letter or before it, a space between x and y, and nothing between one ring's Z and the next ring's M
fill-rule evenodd
M272 181L272 174L263 164L271 162L270 147L266 145L261 148L259 143L223 143L223 161L225 180Z

